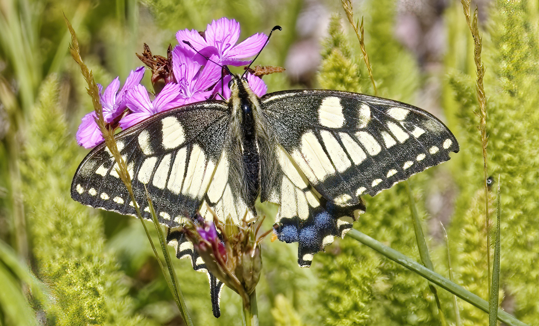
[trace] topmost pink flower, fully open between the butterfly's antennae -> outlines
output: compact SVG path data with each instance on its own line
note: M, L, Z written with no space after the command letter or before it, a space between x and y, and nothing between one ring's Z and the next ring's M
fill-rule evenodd
M179 46L183 47L195 56L193 51L183 41L189 41L191 45L206 56L217 55L218 61L222 65L243 66L249 61L240 59L249 58L257 54L264 46L267 36L264 33L257 33L248 37L240 44L236 44L239 39L239 23L234 19L225 17L213 20L206 27L205 37L202 37L196 30L183 30L176 33ZM196 59L196 58L195 58Z

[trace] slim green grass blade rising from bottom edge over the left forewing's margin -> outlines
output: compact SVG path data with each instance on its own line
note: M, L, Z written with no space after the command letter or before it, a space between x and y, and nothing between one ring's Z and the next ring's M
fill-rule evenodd
M193 326L191 316L189 315L189 310L187 309L187 305L185 304L185 299L183 297L182 290L179 288L176 271L174 270L174 266L172 266L172 262L170 261L170 255L168 253L167 242L165 240L163 230L161 229L161 225L159 224L159 221L157 220L157 215L155 214L155 210L154 210L154 204L151 202L150 194L148 193L148 189L146 189L146 186L144 186L144 190L146 190L146 197L148 198L148 205L150 208L151 219L154 222L155 229L157 230L157 236L159 237L161 250L163 251L165 263L167 264L168 271L170 274L170 282L171 282L170 290L174 294L174 299L178 306L179 312L182 314L183 320L188 326ZM165 278L166 278L167 275L166 275L163 265L162 265L162 269L163 269L163 274L165 275ZM167 281L168 281L168 278L167 278Z

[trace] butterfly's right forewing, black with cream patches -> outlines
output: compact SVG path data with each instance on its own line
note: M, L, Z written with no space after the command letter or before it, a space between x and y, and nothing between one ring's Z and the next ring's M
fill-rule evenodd
M279 142L324 198L342 207L376 195L458 152L436 117L397 101L333 90L267 94Z

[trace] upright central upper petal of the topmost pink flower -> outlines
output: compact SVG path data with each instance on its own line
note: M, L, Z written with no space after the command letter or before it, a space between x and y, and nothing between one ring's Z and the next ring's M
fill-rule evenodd
M206 42L215 46L221 57L232 48L239 38L239 23L226 17L213 20L206 28Z

